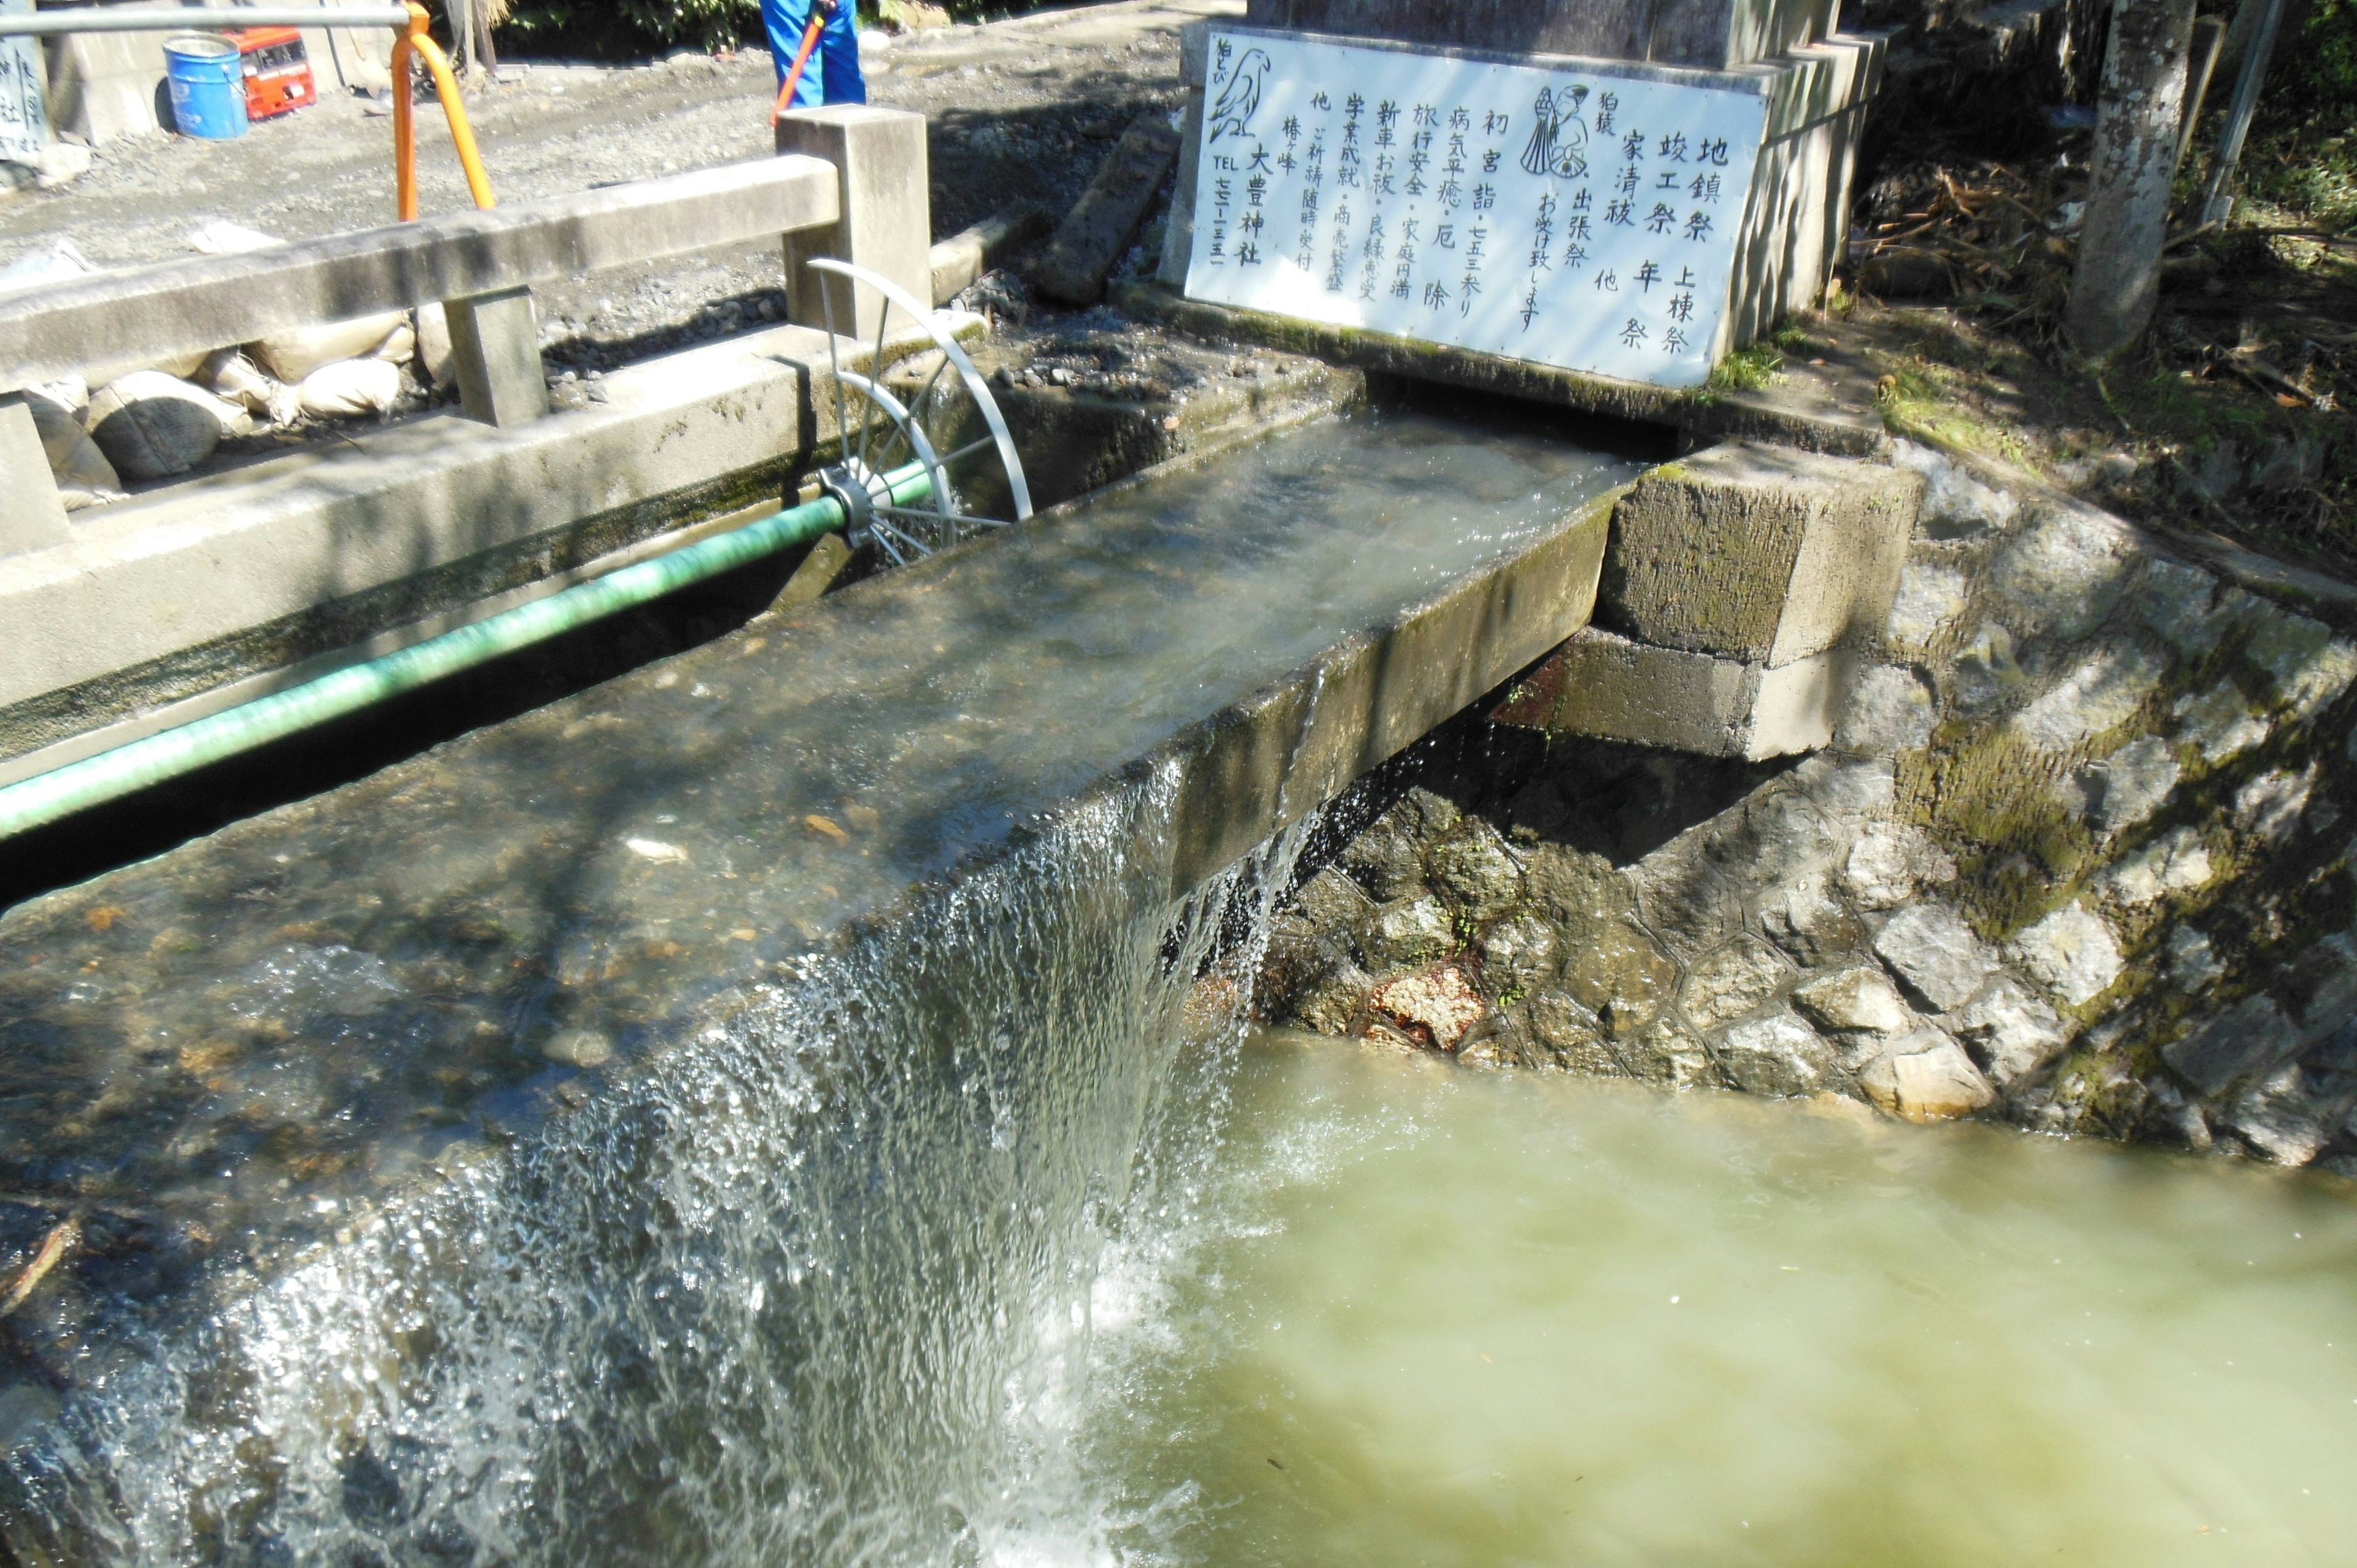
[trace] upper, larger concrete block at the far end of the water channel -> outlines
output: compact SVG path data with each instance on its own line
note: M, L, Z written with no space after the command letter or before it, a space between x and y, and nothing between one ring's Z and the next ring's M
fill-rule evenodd
M1598 620L1770 670L1881 637L1921 500L1912 472L1796 448L1664 465L1612 514Z

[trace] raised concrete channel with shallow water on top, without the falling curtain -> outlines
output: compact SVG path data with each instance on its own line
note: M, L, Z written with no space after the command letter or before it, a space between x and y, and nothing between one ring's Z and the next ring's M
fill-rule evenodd
M1586 625L1638 472L1327 420L19 905L0 1188L106 1240L12 1325L9 1544L78 1556L52 1450L127 1368L1091 802L1186 896Z

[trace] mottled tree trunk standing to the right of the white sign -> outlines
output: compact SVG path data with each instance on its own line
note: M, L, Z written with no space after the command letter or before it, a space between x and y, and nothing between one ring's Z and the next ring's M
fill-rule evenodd
M2194 0L2121 0L2102 59L2093 186L2079 229L2069 335L2088 361L2133 349L2161 297Z

